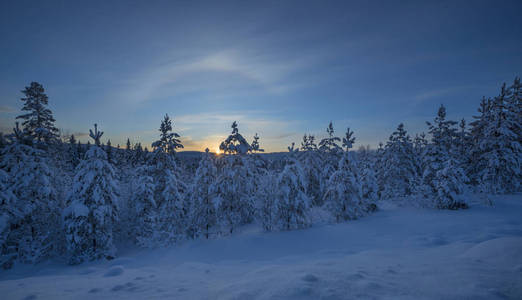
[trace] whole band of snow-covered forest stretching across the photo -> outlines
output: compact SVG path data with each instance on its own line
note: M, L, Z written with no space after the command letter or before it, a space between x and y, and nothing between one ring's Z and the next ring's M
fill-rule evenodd
M49 101L32 82L19 123L0 136L4 269L50 258L111 260L118 245L221 239L251 223L289 231L350 222L371 218L381 200L461 210L469 195L491 203L490 195L522 188L519 78L477 101L472 120L449 120L441 105L425 133L411 136L398 124L378 149L357 147L357 133L330 123L326 138L304 134L287 153L263 153L263 128L249 142L230 120L223 154L194 157L180 151L183 137L168 114L152 149L112 145L103 124L81 144L60 135Z

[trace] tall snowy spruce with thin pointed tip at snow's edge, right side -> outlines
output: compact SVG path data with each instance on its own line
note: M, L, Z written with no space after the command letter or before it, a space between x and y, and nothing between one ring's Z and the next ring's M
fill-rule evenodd
M433 124L426 122L432 136L426 148L423 181L425 196L440 209L467 208L462 193L467 177L453 155L457 122L446 120L446 108L441 105Z

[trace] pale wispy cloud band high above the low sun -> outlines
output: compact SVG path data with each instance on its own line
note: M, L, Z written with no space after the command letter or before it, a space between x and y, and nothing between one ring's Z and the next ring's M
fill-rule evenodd
M161 95L208 93L213 97L241 93L282 94L309 82L294 76L317 63L314 55L280 57L250 48L210 51L191 57L168 58L120 82L114 98L130 103Z

